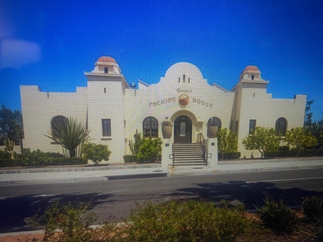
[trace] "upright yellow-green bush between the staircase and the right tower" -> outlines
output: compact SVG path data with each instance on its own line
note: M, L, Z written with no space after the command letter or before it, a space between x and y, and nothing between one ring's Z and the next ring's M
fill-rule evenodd
M225 157L227 153L237 152L238 140L235 132L228 129L220 129L218 132L219 153Z

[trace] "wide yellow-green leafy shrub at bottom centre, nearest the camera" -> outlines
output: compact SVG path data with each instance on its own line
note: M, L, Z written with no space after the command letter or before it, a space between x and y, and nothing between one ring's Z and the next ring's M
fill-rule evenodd
M235 241L248 226L238 210L196 201L148 201L129 217L129 241Z

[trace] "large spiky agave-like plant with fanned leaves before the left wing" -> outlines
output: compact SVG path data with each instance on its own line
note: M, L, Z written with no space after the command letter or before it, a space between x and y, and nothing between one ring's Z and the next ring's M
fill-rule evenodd
M75 157L77 147L89 140L90 131L85 128L83 123L70 117L58 120L49 133L50 135L45 136L60 143L63 148L69 151L70 157Z

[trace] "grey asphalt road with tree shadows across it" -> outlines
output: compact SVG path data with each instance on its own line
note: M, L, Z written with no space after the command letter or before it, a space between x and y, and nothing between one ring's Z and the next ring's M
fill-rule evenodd
M294 206L301 203L302 197L312 195L323 196L323 168L4 185L0 186L0 232L32 229L25 225L25 219L55 201L91 201L90 210L98 214L100 223L110 215L127 217L136 201L143 203L148 199L239 200L248 209L254 209L253 205L261 205L266 196L281 197Z

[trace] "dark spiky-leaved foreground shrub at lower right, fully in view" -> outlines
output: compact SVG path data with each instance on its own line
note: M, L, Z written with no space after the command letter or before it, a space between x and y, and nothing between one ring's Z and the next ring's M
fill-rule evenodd
M267 228L286 231L294 229L300 223L296 212L287 207L281 199L277 203L267 197L265 204L256 207L256 210Z

